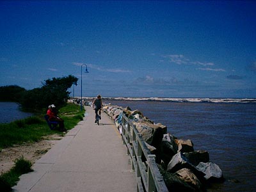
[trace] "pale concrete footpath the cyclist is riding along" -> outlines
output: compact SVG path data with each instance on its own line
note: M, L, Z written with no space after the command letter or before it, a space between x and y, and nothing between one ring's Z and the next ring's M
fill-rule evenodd
M106 113L100 124L86 106L84 120L20 177L13 191L136 191L135 174L118 129Z

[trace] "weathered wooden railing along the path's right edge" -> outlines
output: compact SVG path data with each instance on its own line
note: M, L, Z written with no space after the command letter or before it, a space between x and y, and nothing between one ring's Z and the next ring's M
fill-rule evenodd
M137 191L167 192L163 176L156 164L156 156L150 154L141 134L124 113L122 114L122 140L127 147L127 154L132 159L132 170L137 179Z

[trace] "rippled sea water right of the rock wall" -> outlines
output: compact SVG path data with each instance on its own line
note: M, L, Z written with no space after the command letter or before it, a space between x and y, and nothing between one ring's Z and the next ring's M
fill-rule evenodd
M140 110L180 139L190 139L195 150L207 150L225 182L207 191L256 191L256 103L170 102L159 100L104 100Z

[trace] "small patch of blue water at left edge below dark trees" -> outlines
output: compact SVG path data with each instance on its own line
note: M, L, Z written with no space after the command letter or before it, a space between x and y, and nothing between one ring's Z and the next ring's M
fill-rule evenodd
M14 120L26 118L33 114L20 111L19 104L15 102L0 102L0 124L10 123Z

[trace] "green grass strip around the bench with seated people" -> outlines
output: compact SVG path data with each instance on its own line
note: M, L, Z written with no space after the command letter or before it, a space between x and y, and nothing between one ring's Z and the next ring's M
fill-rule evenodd
M41 140L42 136L58 132L49 129L44 119L45 113L16 120L10 124L0 124L0 149L15 144L35 142ZM80 111L80 107L75 104L67 104L59 112L59 116L65 121L66 129L72 129L83 120L83 114L84 111Z

